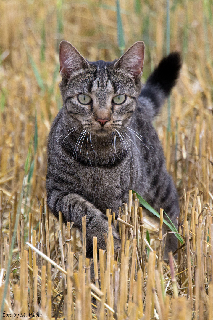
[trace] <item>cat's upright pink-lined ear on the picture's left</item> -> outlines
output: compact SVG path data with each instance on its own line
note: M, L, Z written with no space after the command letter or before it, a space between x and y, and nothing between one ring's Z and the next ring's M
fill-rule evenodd
M60 75L69 78L72 72L88 68L88 62L82 57L75 47L67 42L61 41L59 45Z

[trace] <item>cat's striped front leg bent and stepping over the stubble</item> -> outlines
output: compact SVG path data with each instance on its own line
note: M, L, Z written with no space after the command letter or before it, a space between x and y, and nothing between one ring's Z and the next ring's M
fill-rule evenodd
M47 204L51 212L58 216L61 211L65 221L74 222L74 227L82 230L81 218L87 216L86 232L87 238L93 242L93 237L97 237L97 246L99 249L106 250L104 233L108 232L108 218L95 206L83 197L69 193L63 195L59 190L52 190L48 192ZM114 238L114 251L120 249L120 238L117 229L111 225L112 235Z

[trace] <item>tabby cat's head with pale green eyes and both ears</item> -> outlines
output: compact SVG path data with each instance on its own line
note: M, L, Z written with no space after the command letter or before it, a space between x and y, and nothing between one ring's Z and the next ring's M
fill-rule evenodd
M141 91L144 43L136 42L118 60L89 62L62 41L59 60L62 98L76 125L95 135L121 129Z

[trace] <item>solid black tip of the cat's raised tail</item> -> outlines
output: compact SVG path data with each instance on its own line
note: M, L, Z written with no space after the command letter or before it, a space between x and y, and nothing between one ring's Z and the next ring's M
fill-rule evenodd
M160 86L165 95L168 96L178 79L181 66L180 53L171 52L160 61L156 69L149 76L148 82Z

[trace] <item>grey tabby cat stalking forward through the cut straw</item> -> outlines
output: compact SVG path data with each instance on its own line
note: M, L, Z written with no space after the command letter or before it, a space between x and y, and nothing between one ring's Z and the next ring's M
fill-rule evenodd
M181 68L178 52L163 58L144 86L144 43L133 44L118 60L90 62L69 42L59 47L59 84L63 107L48 139L47 203L64 222L82 229L87 216L87 257L93 237L105 250L106 209L118 217L128 190L138 192L157 212L164 208L177 225L179 199L166 171L164 152L152 121L175 85ZM164 227L164 233L166 228ZM114 250L120 248L112 225ZM165 254L177 249L167 236Z

